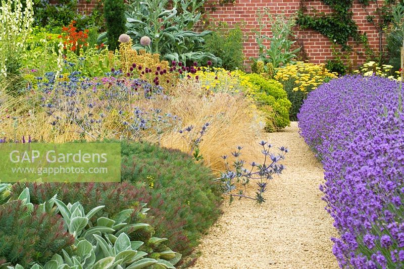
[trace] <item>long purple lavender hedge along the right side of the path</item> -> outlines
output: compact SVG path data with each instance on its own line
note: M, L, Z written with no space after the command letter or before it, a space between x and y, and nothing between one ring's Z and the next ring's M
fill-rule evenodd
M340 267L404 267L404 114L399 84L345 76L309 94L300 134L321 158L320 186Z

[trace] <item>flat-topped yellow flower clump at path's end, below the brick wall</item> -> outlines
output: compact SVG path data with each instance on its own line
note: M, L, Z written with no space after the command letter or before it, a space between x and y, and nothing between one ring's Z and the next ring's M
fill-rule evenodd
M336 78L338 74L329 72L324 64L297 62L276 70L274 79L285 83L293 83L293 91L308 92L324 83L325 79Z

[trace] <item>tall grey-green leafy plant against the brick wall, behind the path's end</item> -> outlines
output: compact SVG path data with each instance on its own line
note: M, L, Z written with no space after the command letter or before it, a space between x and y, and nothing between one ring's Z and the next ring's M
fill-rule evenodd
M268 24L264 23L264 17L268 17ZM256 33L256 41L259 47L259 58L252 59L255 62L262 61L272 63L274 68L290 63L300 48L293 48L295 41L293 27L296 25L296 15L286 16L285 14L271 15L267 9L258 10L258 24L260 28ZM269 27L272 36L263 34L265 27ZM269 47L265 45L270 42Z

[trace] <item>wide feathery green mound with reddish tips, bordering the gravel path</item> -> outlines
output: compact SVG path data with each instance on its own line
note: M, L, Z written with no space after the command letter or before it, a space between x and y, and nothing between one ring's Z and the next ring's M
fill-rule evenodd
M34 204L58 194L64 203L79 201L85 211L106 205L93 222L99 217L114 219L116 213L146 203L147 218L133 214L131 222L150 224L156 235L169 239L174 251L189 254L220 214L222 196L211 170L178 150L130 142L122 142L121 148L122 183L14 184L12 198L28 187Z

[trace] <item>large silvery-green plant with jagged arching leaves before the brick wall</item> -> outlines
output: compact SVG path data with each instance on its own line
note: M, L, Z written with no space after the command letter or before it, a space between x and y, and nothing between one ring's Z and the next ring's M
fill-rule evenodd
M211 32L193 31L201 16L198 9L204 1L174 0L172 5L169 4L169 0L133 1L127 4L127 34L133 39L133 48L160 53L162 59L169 61L203 63L210 60L214 64L221 64L219 58L203 49L204 38ZM148 37L149 41L142 42L142 37Z

